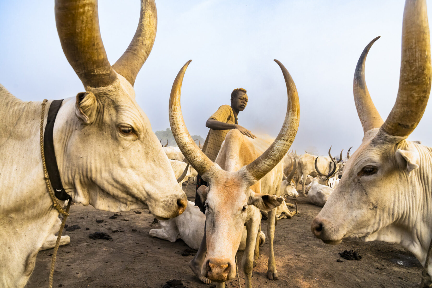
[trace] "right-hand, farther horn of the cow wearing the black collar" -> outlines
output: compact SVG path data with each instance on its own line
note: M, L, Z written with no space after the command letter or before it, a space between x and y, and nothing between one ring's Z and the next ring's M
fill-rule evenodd
M129 47L112 66L133 86L138 72L152 51L156 38L158 15L154 0L141 0L140 21Z

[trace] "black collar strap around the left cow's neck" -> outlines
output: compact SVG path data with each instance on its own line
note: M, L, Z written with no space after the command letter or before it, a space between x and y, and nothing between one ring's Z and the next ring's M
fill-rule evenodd
M51 181L51 186L54 189L54 195L59 200L71 199L67 195L66 191L61 184L60 172L58 171L57 159L55 158L54 152L54 141L53 141L53 130L54 122L57 117L57 113L60 110L61 100L54 100L51 102L50 110L48 111L47 125L45 126L44 133L44 153L45 153L45 163L47 165L48 177Z

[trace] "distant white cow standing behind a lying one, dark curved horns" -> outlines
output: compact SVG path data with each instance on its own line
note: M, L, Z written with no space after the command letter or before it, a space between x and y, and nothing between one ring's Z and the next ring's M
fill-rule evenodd
M340 161L342 161L342 151L340 151L340 157L339 160L335 160L333 158L333 156L330 153L331 150L331 146L330 149L328 150L328 156L325 157L321 157L318 162L318 168L320 169L320 171L324 174L328 174L329 176L327 177L331 177L331 175L333 175L337 169L339 168L339 163ZM306 179L308 178L309 175L311 175L312 177L316 177L319 176L320 173L318 173L318 171L316 171L315 169L315 165L314 162L316 160L318 156L315 155L311 155L311 154L303 154L302 156L300 156L299 160L298 160L298 168L297 168L297 178L295 180L295 187L297 187L297 184L300 181L300 178L302 178L302 193L303 196L306 197L306 193L305 193L305 183L306 183Z

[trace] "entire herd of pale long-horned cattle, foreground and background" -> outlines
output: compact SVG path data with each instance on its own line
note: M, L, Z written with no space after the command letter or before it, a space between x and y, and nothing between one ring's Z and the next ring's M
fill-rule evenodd
M284 197L298 196L301 183L303 196L323 206L311 224L316 237L328 244L339 244L344 237L399 243L424 266L424 285L431 283L432 149L407 140L422 118L431 88L426 0L405 3L399 91L385 122L368 93L364 72L378 38L359 58L353 91L364 137L346 162L342 152L336 160L330 150L326 157L287 153L299 125L299 95L278 60L288 105L274 141L231 130L211 161L189 135L181 112L188 61L174 80L169 101L178 148L162 148L133 89L156 35L154 0L141 1L137 31L112 66L99 32L96 0L56 0L55 17L64 54L86 90L64 99L54 124L58 171L75 203L111 212L148 208L162 226L150 231L152 236L170 241L181 237L195 249L203 239L206 251L190 266L200 280L215 281L217 287L235 277L235 255L244 250L241 266L246 287L251 287L259 245L265 241L262 215L267 212L267 277L276 280L275 219L295 214ZM60 220L44 185L41 102L21 101L2 85L0 97L0 286L24 287L38 251L54 246ZM197 191L205 215L181 189L185 179L197 174L208 184ZM61 241L66 244L70 238Z

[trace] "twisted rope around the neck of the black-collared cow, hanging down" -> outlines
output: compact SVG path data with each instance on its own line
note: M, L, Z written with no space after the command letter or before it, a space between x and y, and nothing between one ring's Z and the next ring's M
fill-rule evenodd
M70 209L70 204L72 203L72 200L69 199L67 201L67 208L66 208L66 211L64 211L63 207L59 203L57 203L57 200L55 199L54 193L51 190L50 178L48 177L48 171L47 171L47 165L45 163L45 153L44 153L44 117L45 117L45 106L47 104L47 101L48 101L47 99L44 99L44 101L42 101L42 104L41 104L42 105L42 113L41 113L42 165L44 167L45 184L47 185L48 193L50 194L51 200L53 202L53 206L60 214L63 214L63 219L61 221L60 230L58 231L57 241L55 243L55 247L54 247L54 251L53 251L53 256L51 258L51 270L50 270L50 278L49 278L49 282L48 282L48 287L52 288L53 287L53 276L54 276L54 265L55 265L55 260L57 258L57 251L58 251L58 247L60 246L60 238L61 238L61 234L63 232L64 224L66 223L66 218L67 218L67 216L69 216L69 209Z

